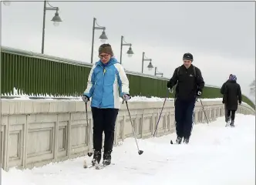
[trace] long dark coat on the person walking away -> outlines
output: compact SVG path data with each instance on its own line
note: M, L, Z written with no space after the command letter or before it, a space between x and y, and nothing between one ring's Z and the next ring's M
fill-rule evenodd
M236 81L228 81L224 87L223 102L228 110L237 110L238 101L242 102L241 87Z

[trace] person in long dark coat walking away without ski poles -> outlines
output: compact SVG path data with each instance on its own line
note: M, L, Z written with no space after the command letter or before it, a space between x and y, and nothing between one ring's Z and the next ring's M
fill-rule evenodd
M227 117L230 119L231 117L231 124L230 126L234 127L234 117L235 112L238 108L238 103L241 105L242 103L242 93L241 93L241 87L237 83L237 77L234 75L231 75L229 78L230 80L226 83L224 88L224 96L222 103L226 104L227 107ZM228 123L226 121L226 126L228 126Z

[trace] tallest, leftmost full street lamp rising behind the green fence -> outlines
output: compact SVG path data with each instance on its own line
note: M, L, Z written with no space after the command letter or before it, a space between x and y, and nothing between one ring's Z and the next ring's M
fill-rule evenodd
M50 6L50 8L46 7L46 2ZM44 1L43 5L43 19L42 19L42 54L44 53L45 50L45 14L46 10L54 10L56 11L54 17L52 18L53 25L58 26L59 22L62 22L62 19L59 17L59 7L54 7L49 4L47 0Z

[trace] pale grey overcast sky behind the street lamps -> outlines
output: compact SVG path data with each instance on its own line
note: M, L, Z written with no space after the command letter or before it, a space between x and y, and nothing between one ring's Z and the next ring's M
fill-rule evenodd
M132 58L123 47L125 69L141 72L142 54L153 59L163 76L183 64L184 52L194 55L207 84L221 86L237 75L249 95L255 78L255 2L50 2L60 8L61 24L46 12L45 54L90 62L93 17L106 26L109 44L120 59L120 39L133 44ZM43 2L2 5L2 45L41 52ZM100 30L96 30L94 61ZM147 70L145 62L144 72Z

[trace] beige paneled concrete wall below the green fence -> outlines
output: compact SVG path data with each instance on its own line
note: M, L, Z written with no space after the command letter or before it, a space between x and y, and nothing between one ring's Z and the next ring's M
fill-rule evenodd
M203 101L207 119L211 123L224 116L220 101ZM89 106L89 105L88 105ZM163 102L130 102L129 108L137 138L153 136ZM84 156L89 151L89 124L86 123L85 104L76 100L17 100L2 99L1 156L2 168L41 167ZM195 123L206 123L204 111L197 102ZM253 114L247 104L237 113ZM157 136L175 132L173 101L167 101L160 119ZM116 119L115 144L133 136L130 118L123 104Z

